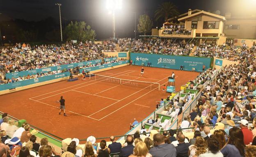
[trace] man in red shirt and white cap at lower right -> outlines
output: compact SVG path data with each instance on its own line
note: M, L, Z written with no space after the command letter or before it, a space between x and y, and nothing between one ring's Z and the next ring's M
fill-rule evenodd
M252 142L253 135L252 135L251 130L248 129L248 121L245 120L245 119L242 119L238 123L240 124L240 128L241 128L242 133L244 135L245 145L250 144L250 142Z

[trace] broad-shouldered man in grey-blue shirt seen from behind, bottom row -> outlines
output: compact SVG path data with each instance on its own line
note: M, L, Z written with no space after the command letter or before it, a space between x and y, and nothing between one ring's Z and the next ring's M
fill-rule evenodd
M176 157L176 149L172 144L166 144L164 136L157 133L153 136L154 147L149 150L152 157Z

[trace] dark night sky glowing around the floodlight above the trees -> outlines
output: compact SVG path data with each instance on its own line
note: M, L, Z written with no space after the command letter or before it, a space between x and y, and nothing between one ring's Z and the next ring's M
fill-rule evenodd
M154 11L162 2L168 0L123 0L123 9L116 12L116 29L118 37L133 35L135 17L147 13L153 18ZM112 35L112 16L105 8L106 0L0 0L0 20L24 19L39 21L49 16L59 18L59 9L55 3L61 3L62 18L67 20L84 20L96 30L98 39ZM222 15L231 12L238 16L241 13L252 14L256 0L169 0L178 7L180 13L188 9L205 11L220 10ZM64 22L63 22L64 23ZM155 22L155 26L156 26ZM160 25L160 24L158 24Z

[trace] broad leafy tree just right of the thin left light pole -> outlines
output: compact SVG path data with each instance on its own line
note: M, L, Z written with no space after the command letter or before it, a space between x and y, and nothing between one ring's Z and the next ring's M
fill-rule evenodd
M78 40L85 42L86 40L94 40L96 33L84 21L73 23L72 21L64 30L64 35L67 40Z

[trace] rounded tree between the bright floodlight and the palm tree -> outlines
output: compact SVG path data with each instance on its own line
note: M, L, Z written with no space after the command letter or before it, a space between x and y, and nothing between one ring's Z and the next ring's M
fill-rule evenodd
M149 15L140 15L139 16L139 24L138 24L138 31L139 33L143 33L146 35L146 33L149 33L151 31L151 28L153 26L153 22L150 19Z

